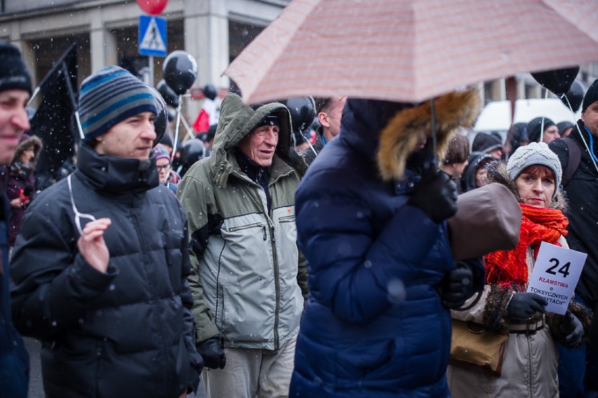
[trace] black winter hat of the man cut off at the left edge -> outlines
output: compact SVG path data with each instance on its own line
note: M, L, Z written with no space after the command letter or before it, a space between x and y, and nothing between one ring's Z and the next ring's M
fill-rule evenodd
M31 95L31 76L19 49L0 40L0 91L6 90L25 90Z

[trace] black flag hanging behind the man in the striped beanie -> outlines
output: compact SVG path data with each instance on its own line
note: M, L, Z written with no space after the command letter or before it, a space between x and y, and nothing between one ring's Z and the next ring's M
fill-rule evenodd
M79 143L79 128L74 117L79 96L77 67L77 43L73 43L34 92L34 96L42 98L29 120L29 134L37 135L44 143L35 173L40 190L60 179L62 164L72 159Z

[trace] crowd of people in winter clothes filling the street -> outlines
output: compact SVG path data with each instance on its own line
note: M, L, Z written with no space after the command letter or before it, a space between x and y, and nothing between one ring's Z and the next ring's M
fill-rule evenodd
M598 394L598 80L577 124L506 144L464 133L476 91L435 98L434 123L430 102L317 98L305 147L286 105L229 92L173 154L157 91L109 66L81 84L74 171L39 191L32 81L1 41L0 65L1 397L27 397L21 335L50 398L200 378L210 398ZM519 203L519 241L456 260L458 194L489 183ZM527 291L542 242L588 255L564 315ZM449 365L453 319L508 335L500 375Z

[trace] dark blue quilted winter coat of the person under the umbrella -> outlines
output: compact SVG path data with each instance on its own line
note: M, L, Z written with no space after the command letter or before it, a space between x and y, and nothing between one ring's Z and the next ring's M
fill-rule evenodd
M448 397L453 268L446 225L406 204L419 176L384 182L378 132L399 104L349 100L341 133L296 194L310 300L290 397Z

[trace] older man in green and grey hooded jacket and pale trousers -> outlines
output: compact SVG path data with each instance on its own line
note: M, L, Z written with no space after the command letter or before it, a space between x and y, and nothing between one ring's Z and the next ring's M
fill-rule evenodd
M284 105L250 107L230 92L211 156L179 184L208 398L288 396L307 298L295 227L302 160Z

